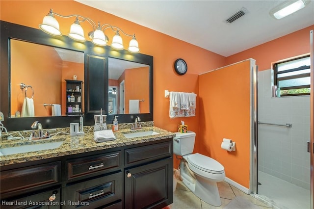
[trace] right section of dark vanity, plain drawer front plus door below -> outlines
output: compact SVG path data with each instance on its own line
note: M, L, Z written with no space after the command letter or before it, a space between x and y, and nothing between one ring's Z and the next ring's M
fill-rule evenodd
M167 140L125 149L126 209L164 208L173 202L172 147Z

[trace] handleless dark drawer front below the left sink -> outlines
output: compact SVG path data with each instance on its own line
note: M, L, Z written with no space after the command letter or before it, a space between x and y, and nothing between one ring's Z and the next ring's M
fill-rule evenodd
M1 194L60 182L60 161L1 172Z

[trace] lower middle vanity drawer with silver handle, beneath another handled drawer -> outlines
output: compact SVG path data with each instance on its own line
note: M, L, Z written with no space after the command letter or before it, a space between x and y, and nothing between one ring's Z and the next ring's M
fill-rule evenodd
M122 172L68 185L63 192L67 209L97 208L122 199ZM79 204L79 205L75 205Z

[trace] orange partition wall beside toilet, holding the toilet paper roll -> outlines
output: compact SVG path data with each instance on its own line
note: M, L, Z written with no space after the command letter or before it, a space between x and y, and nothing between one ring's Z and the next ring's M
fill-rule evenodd
M250 179L250 60L199 77L200 152L225 167L226 177L249 188ZM223 138L236 151L221 149Z

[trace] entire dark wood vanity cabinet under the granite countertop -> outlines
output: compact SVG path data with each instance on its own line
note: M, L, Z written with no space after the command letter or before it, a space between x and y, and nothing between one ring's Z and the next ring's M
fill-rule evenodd
M1 208L164 208L173 202L172 147L168 138L2 166Z

